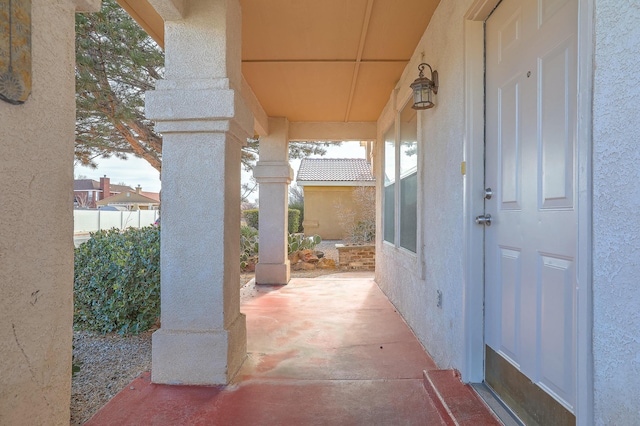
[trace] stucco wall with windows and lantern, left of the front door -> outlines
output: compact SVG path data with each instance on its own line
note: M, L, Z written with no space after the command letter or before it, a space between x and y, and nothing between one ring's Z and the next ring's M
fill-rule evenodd
M433 109L418 113L418 254L382 242L377 232L376 280L440 368L462 367L464 19L470 1L442 0L397 91L378 121L378 140L408 96L417 65L439 73ZM424 58L422 57L424 52ZM396 99L397 97L397 99ZM446 124L444 124L446 123ZM376 158L384 157L377 144ZM377 170L382 170L378 164ZM379 182L381 179L379 179ZM378 188L380 201L380 188ZM378 230L381 229L378 218ZM422 246L420 247L420 241ZM442 308L437 292L442 292Z

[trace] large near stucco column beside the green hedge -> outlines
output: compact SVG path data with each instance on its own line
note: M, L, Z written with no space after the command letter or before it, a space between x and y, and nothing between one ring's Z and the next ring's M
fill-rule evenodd
M246 355L240 150L253 117L238 92L238 1L188 6L182 19L165 21L166 79L146 98L147 116L163 134L162 306L152 380L213 385L228 383Z

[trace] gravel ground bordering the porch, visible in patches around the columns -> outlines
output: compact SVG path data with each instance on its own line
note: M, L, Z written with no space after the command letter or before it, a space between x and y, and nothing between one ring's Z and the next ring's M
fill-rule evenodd
M335 244L340 241L322 241L316 250L338 262ZM292 271L291 276L311 278L334 274L335 269ZM253 273L240 276L241 303L254 297ZM99 335L77 331L73 336L74 362L81 362L80 371L72 379L71 425L82 425L103 405L124 389L133 379L151 370L151 334L123 337L112 333Z

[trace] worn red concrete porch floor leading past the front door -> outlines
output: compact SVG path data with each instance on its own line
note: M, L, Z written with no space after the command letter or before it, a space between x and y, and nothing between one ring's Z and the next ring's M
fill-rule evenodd
M157 385L144 373L87 424L500 424L452 372L435 371L371 274L259 288L242 312L248 354L232 384Z

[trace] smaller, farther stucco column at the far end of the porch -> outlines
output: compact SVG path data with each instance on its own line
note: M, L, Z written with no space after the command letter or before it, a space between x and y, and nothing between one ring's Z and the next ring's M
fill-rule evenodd
M260 161L253 175L260 184L260 245L256 284L287 284L290 278L287 257L289 183L289 122L269 118L269 135L260 139Z

